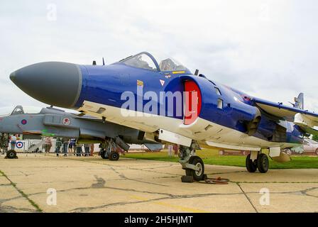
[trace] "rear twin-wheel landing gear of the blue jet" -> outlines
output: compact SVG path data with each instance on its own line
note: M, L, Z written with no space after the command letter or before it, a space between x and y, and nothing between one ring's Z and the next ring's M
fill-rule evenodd
M256 158L255 158L256 157ZM246 169L248 172L268 172L268 157L263 153L257 153L252 151L251 154L246 156Z

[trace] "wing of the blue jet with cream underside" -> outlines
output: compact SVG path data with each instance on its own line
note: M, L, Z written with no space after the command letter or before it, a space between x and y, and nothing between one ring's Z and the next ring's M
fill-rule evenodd
M253 97L251 101L268 114L277 116L278 118L284 118L287 121L293 121L299 126L309 128L318 126L318 114L312 111L297 109L292 106L283 105L283 103L275 103L256 97Z

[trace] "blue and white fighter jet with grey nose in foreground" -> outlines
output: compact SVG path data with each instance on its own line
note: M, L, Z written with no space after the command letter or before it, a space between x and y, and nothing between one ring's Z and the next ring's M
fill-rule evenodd
M249 150L248 172L267 172L264 149L283 161L286 149L318 135L318 114L304 109L303 94L293 106L258 99L148 52L111 65L41 62L10 78L46 104L136 128L146 140L180 145L182 169L195 180L204 178L195 153L200 148Z

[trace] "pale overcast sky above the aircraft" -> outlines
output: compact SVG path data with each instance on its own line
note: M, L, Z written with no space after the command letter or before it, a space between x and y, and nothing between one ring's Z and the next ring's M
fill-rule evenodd
M9 79L43 61L162 52L270 101L318 112L318 1L0 1L0 107L46 106Z

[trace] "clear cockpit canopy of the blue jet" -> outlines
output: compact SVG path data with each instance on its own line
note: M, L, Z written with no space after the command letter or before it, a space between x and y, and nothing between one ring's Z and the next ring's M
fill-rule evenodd
M137 67L145 70L153 70L158 72L169 72L169 71L185 71L191 73L184 65L177 62L172 57L163 57L158 62L155 60L153 55L150 55L148 52L141 52L137 55L126 57L120 62L125 65L132 67Z

